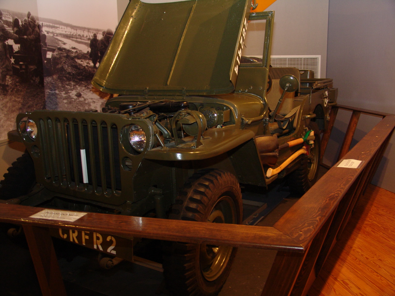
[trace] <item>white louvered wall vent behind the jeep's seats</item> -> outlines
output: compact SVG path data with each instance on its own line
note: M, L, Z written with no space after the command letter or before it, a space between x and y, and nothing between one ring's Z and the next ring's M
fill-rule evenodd
M317 56L271 56L273 67L295 67L299 70L314 71L314 78L320 78L321 55Z

